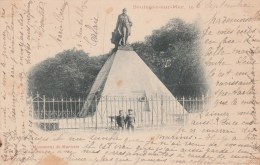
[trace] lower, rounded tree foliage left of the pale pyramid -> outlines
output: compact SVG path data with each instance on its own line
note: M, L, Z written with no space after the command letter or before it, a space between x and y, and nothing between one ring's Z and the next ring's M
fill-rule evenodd
M89 57L82 50L66 50L33 67L29 92L46 97L86 96L108 55Z

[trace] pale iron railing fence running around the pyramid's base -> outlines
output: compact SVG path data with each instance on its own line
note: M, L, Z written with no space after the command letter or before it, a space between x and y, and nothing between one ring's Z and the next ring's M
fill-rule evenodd
M209 97L173 98L155 95L151 98L102 96L94 98L92 115L80 116L84 98L46 98L39 94L32 98L34 119L43 130L60 129L116 129L118 110L127 114L133 109L136 128L158 128L184 125L199 115L209 103ZM184 110L185 109L185 110Z

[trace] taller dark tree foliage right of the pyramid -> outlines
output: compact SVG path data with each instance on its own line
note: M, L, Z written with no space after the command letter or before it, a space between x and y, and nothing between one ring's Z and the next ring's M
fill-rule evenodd
M178 97L206 93L198 25L171 19L145 42L133 43L137 54Z

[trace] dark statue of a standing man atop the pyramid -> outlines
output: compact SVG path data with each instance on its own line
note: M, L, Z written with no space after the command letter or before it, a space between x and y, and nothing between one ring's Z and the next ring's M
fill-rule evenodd
M128 44L128 36L131 35L132 21L126 14L126 8L123 9L123 13L118 16L116 29L112 33L112 43L118 46L126 46Z

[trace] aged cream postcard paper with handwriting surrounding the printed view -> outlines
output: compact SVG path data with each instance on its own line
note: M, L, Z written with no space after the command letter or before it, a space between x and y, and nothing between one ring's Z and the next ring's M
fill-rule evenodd
M133 21L130 43L172 18L196 22L206 110L182 126L132 134L39 129L28 92L31 68L73 48L109 53L123 8ZM257 0L0 0L0 35L1 165L260 164Z

